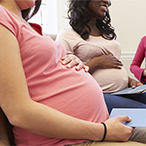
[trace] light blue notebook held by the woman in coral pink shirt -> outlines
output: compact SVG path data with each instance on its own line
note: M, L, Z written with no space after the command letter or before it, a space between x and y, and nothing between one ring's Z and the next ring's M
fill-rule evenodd
M132 120L123 124L130 127L146 127L146 108L113 108L110 117L127 115Z

